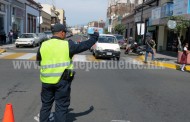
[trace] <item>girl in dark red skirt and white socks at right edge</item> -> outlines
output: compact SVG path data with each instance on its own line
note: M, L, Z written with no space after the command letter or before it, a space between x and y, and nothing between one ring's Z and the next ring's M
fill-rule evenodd
M186 64L187 64L187 55L189 54L189 51L188 51L188 43L186 43L185 45L184 45L184 48L183 48L183 54L182 54L182 56L181 56L181 61L180 61L180 63L182 64L182 66L181 66L181 71L183 71L184 72L184 68L185 68L185 66L186 66Z

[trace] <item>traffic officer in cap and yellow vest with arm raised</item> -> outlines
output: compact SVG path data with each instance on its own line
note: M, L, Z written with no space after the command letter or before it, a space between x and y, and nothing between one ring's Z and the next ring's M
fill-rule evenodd
M66 114L70 105L71 81L74 54L90 49L98 40L99 33L94 32L90 39L79 44L65 40L66 26L55 24L53 37L42 43L37 52L42 82L40 122L49 122L53 102L55 101L55 122L66 122Z

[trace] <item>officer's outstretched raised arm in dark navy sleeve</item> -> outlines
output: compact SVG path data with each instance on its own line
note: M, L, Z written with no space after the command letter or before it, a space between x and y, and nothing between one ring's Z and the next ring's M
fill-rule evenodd
M79 44L74 43L73 41L69 41L69 54L70 57L72 58L74 54L81 53L83 51L86 51L90 49L97 41L99 38L99 33L94 32L94 34L90 35L90 39L86 41L82 41Z

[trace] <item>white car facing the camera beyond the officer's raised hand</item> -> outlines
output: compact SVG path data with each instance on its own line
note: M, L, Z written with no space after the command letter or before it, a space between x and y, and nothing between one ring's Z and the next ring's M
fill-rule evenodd
M120 59L120 46L116 37L109 34L100 34L98 41L93 46L93 53L96 58L116 58Z

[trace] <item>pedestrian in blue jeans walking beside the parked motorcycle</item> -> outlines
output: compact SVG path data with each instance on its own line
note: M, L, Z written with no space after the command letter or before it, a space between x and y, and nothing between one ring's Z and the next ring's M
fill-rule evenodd
M145 63L147 63L147 58L148 58L148 54L151 53L152 54L152 61L154 61L154 55L155 55L155 51L154 48L156 46L155 41L152 39L152 34L150 32L148 32L146 34L146 54L145 54Z

